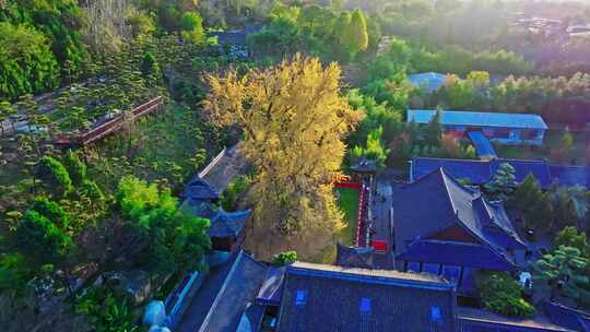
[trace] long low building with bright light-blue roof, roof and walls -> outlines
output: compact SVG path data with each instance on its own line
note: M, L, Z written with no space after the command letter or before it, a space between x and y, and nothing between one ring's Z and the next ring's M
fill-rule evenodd
M436 109L408 109L408 122L429 123ZM446 132L463 137L479 131L503 144L541 145L547 124L538 115L442 110L440 123Z

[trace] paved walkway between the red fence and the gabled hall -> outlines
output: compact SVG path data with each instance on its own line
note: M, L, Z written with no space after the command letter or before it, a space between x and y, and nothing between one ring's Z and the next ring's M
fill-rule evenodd
M391 218L390 209L392 204L392 188L389 180L378 179L377 191L373 195L373 201L369 202L369 209L373 215L373 239L385 241L387 251L385 253L376 253L374 256L375 268L377 269L393 269L393 238L391 236Z

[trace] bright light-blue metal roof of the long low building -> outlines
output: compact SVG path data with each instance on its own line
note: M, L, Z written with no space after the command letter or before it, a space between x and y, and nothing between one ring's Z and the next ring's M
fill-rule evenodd
M408 109L408 122L429 123L435 115L436 109ZM444 126L547 129L545 121L532 114L444 110L440 122Z

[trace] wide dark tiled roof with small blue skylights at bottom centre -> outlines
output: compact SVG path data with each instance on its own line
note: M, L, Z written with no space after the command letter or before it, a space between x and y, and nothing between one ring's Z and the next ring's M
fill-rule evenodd
M278 332L455 331L455 288L434 275L296 262Z

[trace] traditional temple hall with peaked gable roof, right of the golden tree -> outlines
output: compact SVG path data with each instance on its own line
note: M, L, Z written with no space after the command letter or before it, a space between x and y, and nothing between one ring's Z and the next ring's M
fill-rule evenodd
M527 250L500 203L442 168L393 192L393 233L398 270L442 275L465 295L476 270L514 271Z

